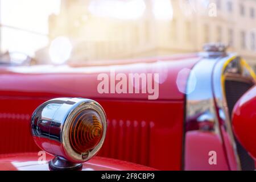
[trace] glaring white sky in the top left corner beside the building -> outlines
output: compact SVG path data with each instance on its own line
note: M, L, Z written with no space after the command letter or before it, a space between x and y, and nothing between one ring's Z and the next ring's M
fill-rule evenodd
M48 16L60 13L60 0L1 1L1 51L35 52L48 45Z

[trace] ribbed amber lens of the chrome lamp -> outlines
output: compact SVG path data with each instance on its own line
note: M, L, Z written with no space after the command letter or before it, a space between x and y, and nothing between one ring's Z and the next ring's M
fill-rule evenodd
M92 150L100 142L103 125L100 115L94 110L83 110L73 119L69 140L73 150L82 154Z

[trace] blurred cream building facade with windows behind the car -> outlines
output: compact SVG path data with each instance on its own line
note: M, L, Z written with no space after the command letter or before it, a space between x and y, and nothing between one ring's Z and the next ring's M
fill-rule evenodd
M72 62L198 52L204 43L222 42L256 69L255 0L170 0L173 16L165 20L155 18L153 0L144 1L138 19L95 15L92 1L100 2L63 0L60 14L49 16L49 39L68 37ZM44 59L45 51L36 57Z

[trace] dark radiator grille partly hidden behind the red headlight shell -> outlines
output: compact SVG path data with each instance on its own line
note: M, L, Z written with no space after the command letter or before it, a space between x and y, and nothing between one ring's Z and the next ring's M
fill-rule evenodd
M230 118L232 116L232 110L234 108L234 105L242 97L242 95L251 88L251 86L253 86L253 84L248 84L246 82L229 80L225 81L226 101L229 108ZM238 142L236 137L235 139L242 170L254 170L255 164L253 158L251 158L251 156L247 153L245 148L241 146L240 142Z

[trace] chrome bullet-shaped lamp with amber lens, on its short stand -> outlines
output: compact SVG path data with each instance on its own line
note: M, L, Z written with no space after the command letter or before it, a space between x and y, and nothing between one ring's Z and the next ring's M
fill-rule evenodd
M49 166L59 170L81 168L81 163L96 155L104 143L106 126L101 105L85 98L49 100L31 118L35 143L55 156Z

